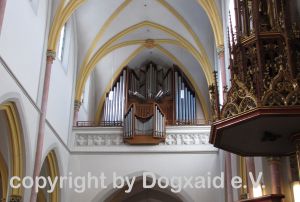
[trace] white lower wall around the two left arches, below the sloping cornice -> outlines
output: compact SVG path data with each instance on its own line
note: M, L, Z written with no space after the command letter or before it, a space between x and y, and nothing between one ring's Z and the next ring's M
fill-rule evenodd
M34 104L33 100L26 95L26 91L17 84L16 80L8 73L7 69L2 64L0 64L0 75L0 103L12 101L17 105L23 133L22 145L24 145L24 174L25 176L32 176L40 110ZM68 168L69 153L55 129L50 130L50 128L51 126L46 124L44 149L42 154L43 159L51 149L54 149L59 158L59 170L63 175L65 175ZM0 133L1 142L3 140L2 135L3 134ZM24 201L29 201L30 191L31 190L29 189L24 191Z

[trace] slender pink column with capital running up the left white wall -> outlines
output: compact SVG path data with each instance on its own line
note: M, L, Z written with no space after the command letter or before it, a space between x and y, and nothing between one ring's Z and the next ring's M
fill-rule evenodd
M46 125L46 113L47 113L47 105L48 105L48 95L49 95L49 86L50 86L50 78L51 78L51 68L53 61L55 59L55 52L47 51L47 63L46 63L46 71L44 77L44 86L43 86L43 95L42 95L42 105L41 105L41 114L39 120L39 130L36 144L36 152L35 152L35 162L34 162L34 170L33 170L33 179L40 175L40 170L42 166L42 152L44 145L44 136L45 136L45 125ZM35 187L35 184L34 186ZM35 189L31 190L30 202L36 202L37 193Z

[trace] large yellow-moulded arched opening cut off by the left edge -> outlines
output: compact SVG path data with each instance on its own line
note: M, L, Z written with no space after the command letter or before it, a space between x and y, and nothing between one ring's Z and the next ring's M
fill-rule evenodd
M22 179L25 165L22 127L15 103L6 102L0 105L0 128L0 182L2 190L0 196L2 199L9 198L18 201L23 196L22 188L8 190L7 186L9 176L18 176ZM7 193L10 196L7 196Z

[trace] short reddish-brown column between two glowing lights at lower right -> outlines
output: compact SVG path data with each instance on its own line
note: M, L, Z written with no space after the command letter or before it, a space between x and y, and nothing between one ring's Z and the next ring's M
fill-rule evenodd
M280 158L269 157L272 194L281 194Z

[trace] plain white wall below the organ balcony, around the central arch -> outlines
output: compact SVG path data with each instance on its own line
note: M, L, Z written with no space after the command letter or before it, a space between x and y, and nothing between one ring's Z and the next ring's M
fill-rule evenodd
M70 190L67 201L104 201L111 190L112 175L141 176L142 172L150 171L157 176L211 176L220 175L218 153L120 153L120 154L74 154L70 158L70 172L73 176L87 176L88 172L99 176L101 172L107 177L107 189L89 189L84 194ZM183 195L188 195L187 202L202 201L224 202L223 190L214 189L184 189Z

